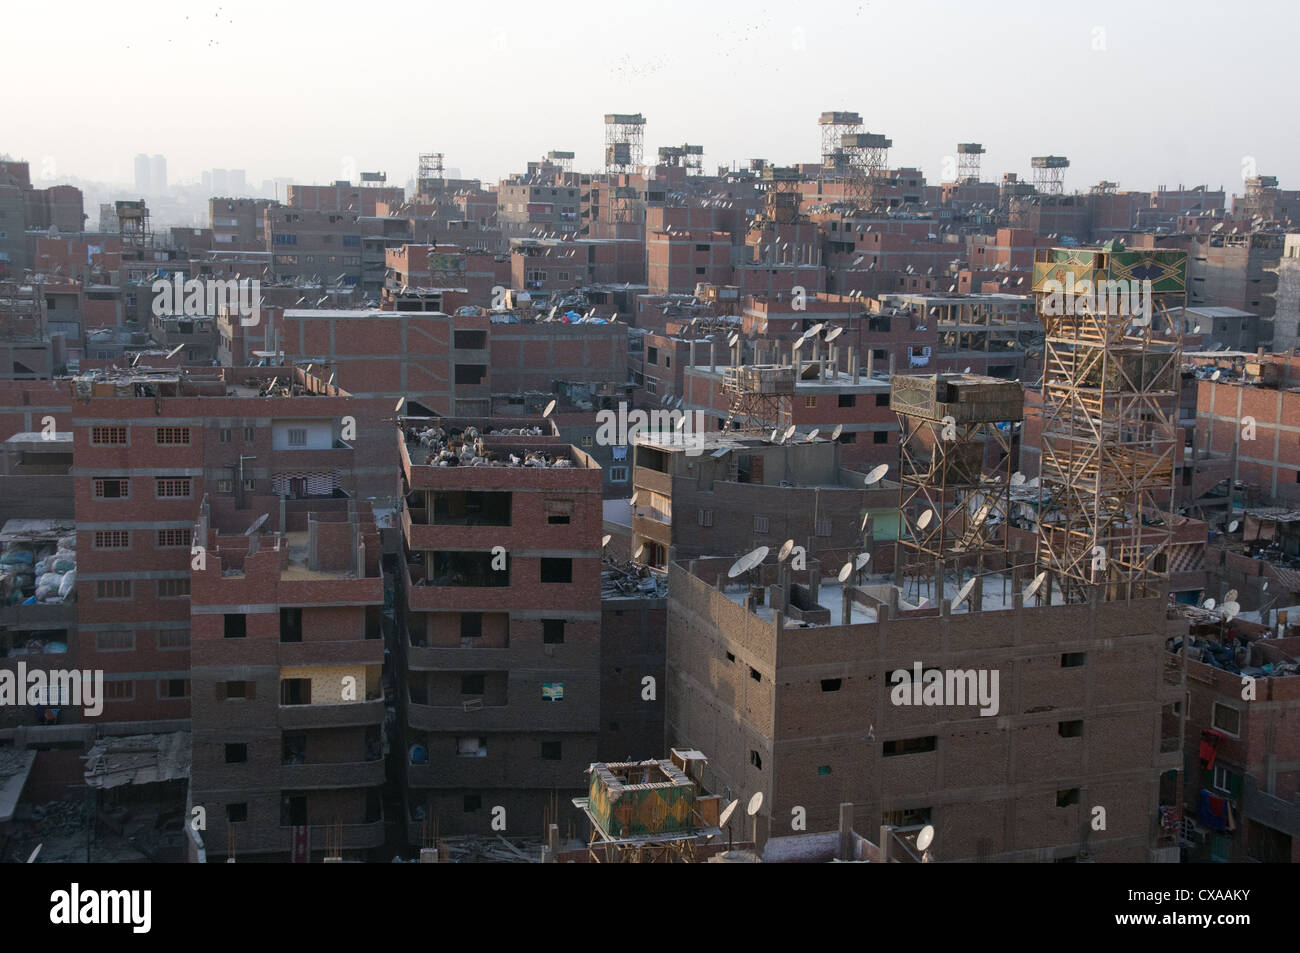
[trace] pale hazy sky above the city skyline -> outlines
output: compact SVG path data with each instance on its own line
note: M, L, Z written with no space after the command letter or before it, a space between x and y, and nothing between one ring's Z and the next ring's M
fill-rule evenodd
M547 150L602 161L603 114L641 112L646 156L705 168L815 161L823 109L862 113L890 165L983 178L1066 155L1066 189L1222 185L1243 165L1300 189L1291 0L372 4L5 0L0 152L130 182L243 168L404 185L421 151L495 181ZM46 166L42 166L42 163Z

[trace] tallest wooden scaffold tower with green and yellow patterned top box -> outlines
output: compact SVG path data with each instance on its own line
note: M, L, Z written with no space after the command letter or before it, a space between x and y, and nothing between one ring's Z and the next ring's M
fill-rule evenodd
M1169 311L1186 303L1186 274L1183 251L1035 252L1045 332L1037 562L1066 602L1147 595L1167 577L1182 442Z

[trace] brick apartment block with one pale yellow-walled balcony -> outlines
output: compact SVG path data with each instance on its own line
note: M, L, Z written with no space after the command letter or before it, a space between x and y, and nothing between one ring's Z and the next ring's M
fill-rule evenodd
M368 503L204 497L190 581L191 798L209 861L385 840L385 581ZM287 519L286 519L287 517Z

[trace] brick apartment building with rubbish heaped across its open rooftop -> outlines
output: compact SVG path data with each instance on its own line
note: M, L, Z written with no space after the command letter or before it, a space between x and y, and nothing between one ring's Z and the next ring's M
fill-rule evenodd
M488 832L500 810L511 832L580 820L567 797L601 728L602 480L536 423L403 417L411 844Z

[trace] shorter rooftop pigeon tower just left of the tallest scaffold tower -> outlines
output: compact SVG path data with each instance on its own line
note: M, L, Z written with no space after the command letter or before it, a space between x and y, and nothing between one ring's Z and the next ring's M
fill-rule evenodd
M904 577L932 576L936 560L1005 553L1011 430L1024 419L1024 387L979 374L896 374L889 407L900 425Z

